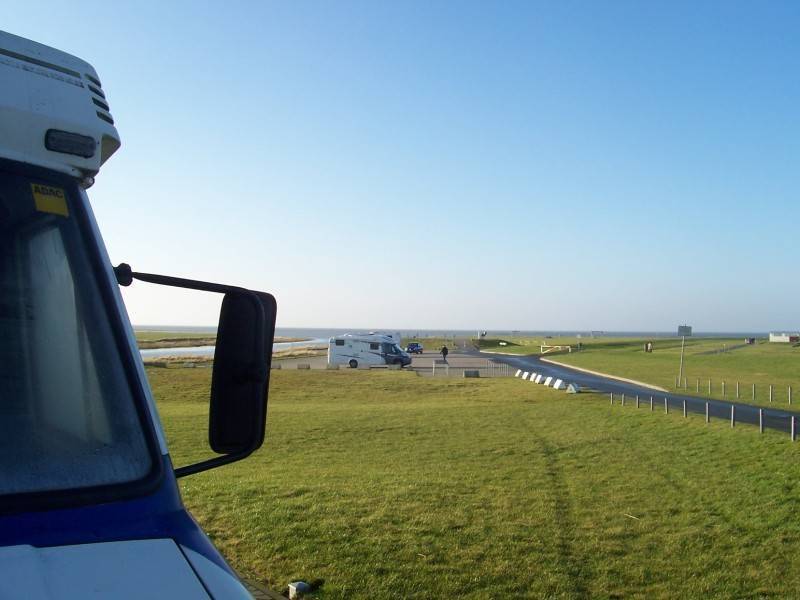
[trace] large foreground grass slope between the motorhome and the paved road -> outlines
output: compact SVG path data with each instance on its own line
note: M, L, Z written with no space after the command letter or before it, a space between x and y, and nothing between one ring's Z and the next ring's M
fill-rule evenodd
M148 375L175 464L205 456L208 370ZM798 451L511 378L285 371L264 448L181 488L243 575L321 598L791 597Z

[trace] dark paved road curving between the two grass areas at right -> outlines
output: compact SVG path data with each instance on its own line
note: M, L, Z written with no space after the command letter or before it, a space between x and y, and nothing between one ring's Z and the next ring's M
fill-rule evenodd
M659 392L650 388L642 387L633 383L625 383L616 379L609 379L600 375L591 375L564 367L561 365L553 365L551 363L542 362L538 356L509 356L501 354L484 354L481 356L491 358L495 362L503 362L516 369L523 371L535 371L545 376L553 376L562 379L567 383L577 383L581 387L590 388L605 393L613 393L615 396L619 394L620 400L622 394L626 395L631 404L638 394L642 400L643 405L646 404L649 408L650 396L653 396L654 405L661 410L664 410L664 399L667 399L667 404L670 410L683 410L683 401L686 401L687 412L705 414L706 402L708 402L708 412L713 419L726 419L730 421L731 406L735 406L736 422L737 423L751 423L758 425L758 407L749 404L741 404L738 402L725 402L722 400L714 400L711 398L697 398L695 396L683 396L681 394L674 394L672 392ZM764 427L769 429L776 429L778 431L789 432L791 429L791 417L800 417L800 413L764 408ZM800 428L800 418L796 419L797 426Z

